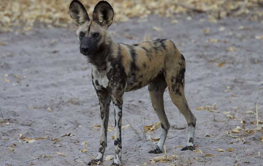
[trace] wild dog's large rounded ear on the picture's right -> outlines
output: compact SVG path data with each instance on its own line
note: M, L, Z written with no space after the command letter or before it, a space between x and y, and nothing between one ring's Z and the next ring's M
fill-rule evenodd
M113 9L107 1L99 1L92 14L93 21L97 22L101 26L107 27L112 24L113 16Z

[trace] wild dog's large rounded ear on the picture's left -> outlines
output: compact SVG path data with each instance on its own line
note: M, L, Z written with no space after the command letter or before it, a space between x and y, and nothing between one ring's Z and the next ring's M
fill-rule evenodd
M70 17L73 19L73 23L77 26L82 25L86 21L89 21L89 15L85 7L78 0L74 0L70 3L69 14Z

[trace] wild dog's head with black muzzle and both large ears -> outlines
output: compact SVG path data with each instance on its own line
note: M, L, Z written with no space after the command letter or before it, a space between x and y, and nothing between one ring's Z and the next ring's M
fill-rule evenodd
M79 28L77 35L80 41L80 53L92 55L105 48L109 44L107 29L113 22L114 12L106 1L99 1L94 8L92 20L85 7L77 0L71 2L69 14L73 23Z

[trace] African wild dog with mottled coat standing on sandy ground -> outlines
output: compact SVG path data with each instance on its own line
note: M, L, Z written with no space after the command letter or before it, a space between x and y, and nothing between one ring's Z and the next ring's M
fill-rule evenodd
M138 44L122 44L107 33L113 22L113 9L106 1L94 8L92 19L77 0L71 2L69 13L79 26L80 52L92 66L92 83L99 98L100 145L95 159L88 165L103 161L107 147L109 104L115 111L115 157L113 165L121 164L121 119L123 93L148 85L154 111L161 122L161 138L149 153L162 153L170 124L164 111L163 94L168 86L172 102L182 112L189 126L188 141L182 150L194 150L196 118L184 96L185 59L171 40L155 39Z

